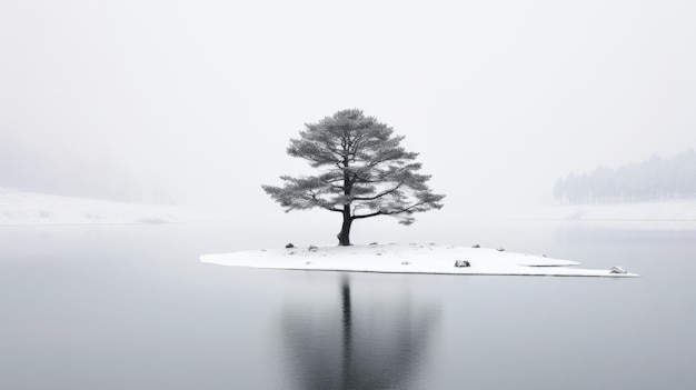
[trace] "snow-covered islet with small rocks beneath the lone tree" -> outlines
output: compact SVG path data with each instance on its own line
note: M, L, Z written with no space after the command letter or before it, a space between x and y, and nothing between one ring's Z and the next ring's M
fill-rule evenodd
M470 267L457 268L457 260ZM570 260L547 258L487 248L437 244L370 244L338 247L262 249L233 253L203 254L200 261L231 267L391 273L445 273L553 277L638 277L612 273L609 269L581 269ZM614 266L614 264L613 264Z

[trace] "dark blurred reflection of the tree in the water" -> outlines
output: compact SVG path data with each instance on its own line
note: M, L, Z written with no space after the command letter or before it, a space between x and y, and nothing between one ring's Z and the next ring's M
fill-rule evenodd
M439 306L417 298L412 283L361 278L351 282L344 276L334 280L337 294L304 296L301 302L286 306L286 361L297 388L417 387L414 381L439 323Z

